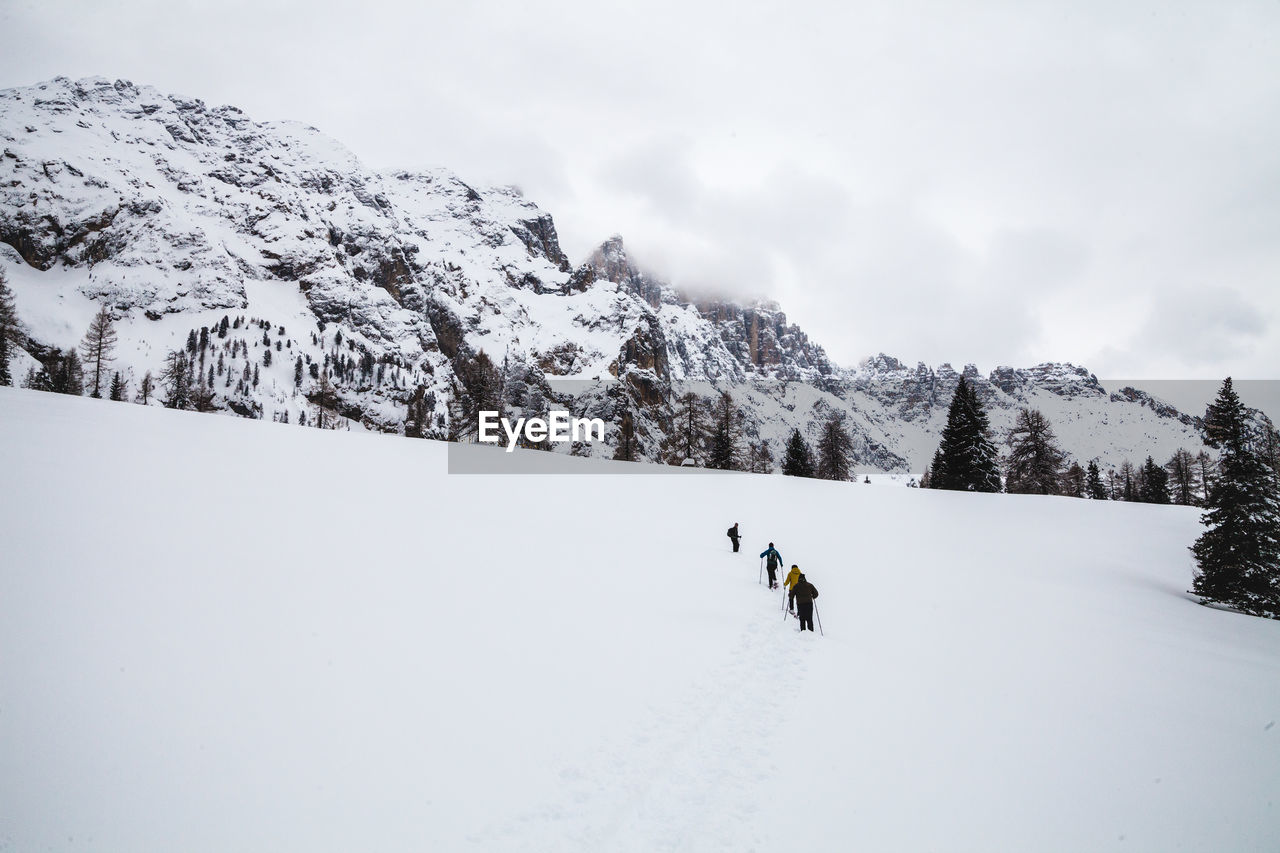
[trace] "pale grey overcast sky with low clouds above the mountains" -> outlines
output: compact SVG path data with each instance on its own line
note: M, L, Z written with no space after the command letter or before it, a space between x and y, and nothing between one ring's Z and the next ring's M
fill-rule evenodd
M513 183L854 365L1275 378L1280 3L0 0L104 76Z

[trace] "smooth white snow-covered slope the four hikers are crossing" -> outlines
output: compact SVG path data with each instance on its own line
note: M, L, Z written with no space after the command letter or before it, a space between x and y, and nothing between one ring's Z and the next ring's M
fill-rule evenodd
M0 388L0 848L1280 848L1194 511L445 455Z

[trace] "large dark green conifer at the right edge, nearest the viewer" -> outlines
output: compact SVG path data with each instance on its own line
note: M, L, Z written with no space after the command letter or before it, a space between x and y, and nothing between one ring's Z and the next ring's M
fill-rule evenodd
M1253 446L1244 406L1228 378L1204 414L1204 443L1219 470L1192 553L1194 592L1247 613L1280 617L1280 500L1275 471Z

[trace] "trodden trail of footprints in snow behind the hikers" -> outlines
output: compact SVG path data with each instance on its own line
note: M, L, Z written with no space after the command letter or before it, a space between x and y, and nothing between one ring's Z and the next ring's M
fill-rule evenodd
M750 795L777 771L768 757L787 734L819 640L782 620L780 593L762 590L762 599L708 679L600 744L590 766L561 768L562 788L544 806L468 840L538 850L554 838L556 849L584 853L772 848L760 825L768 804Z

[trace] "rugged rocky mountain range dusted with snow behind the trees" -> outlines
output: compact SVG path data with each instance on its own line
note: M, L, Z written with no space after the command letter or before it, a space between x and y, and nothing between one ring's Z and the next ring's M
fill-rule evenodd
M860 467L918 473L960 377L883 355L840 368L776 304L685 293L620 237L573 266L516 188L374 172L314 128L232 106L58 78L0 91L0 268L28 332L15 379L106 305L131 387L193 339L212 407L241 415L315 423L323 406L447 437L483 352L516 409L631 412L645 459L662 456L680 393L727 389L776 455L840 411ZM1080 368L964 373L997 430L1039 407L1080 460L1201 447L1192 418Z

